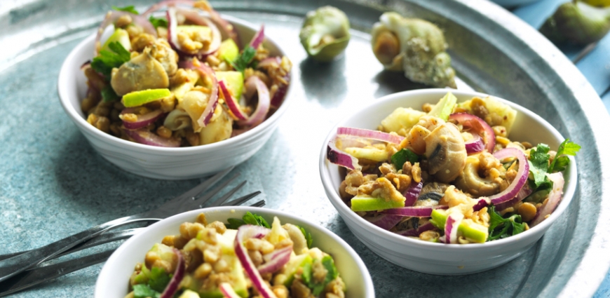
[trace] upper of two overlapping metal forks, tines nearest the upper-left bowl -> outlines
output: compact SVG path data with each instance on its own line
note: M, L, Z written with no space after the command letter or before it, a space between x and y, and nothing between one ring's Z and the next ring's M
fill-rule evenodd
M6 280L6 278L14 276L17 273L30 269L51 257L55 257L56 255L59 255L60 253L65 252L66 250L69 250L70 248L73 248L76 245L79 245L79 243L83 243L84 241L94 238L95 236L98 236L109 229L114 229L118 226L122 226L124 224L129 224L132 222L156 221L159 219L170 217L171 215L176 215L181 212L196 209L203 204L202 202L208 201L210 198L212 198L212 196L224 189L224 187L226 187L236 178L236 176L232 177L231 179L220 184L218 187L208 192L204 196L195 199L198 194L201 194L201 192L212 187L212 185L221 180L222 177L224 177L232 169L233 168L229 168L222 172L219 172L217 175L211 177L208 180L205 180L205 182L199 184L198 186L185 192L184 194L177 196L176 198L173 198L172 200L164 203L155 210L114 219L110 222L94 226L93 228L90 228L86 231L82 231L72 236L68 236L67 238L63 238L60 241L50 243L41 248L29 250L22 254L15 255L14 257L3 259L0 261L0 282L2 280ZM243 186L243 184L240 184L237 189L241 186ZM233 189L233 193L235 191L236 190Z

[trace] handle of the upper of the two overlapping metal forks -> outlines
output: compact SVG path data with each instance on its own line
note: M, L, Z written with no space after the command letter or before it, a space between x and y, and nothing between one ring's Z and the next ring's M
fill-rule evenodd
M17 273L36 266L37 264L44 262L50 257L54 257L55 255L65 252L66 250L69 250L70 248L74 247L74 245L78 245L83 241L88 241L89 239L99 235L100 233L103 233L104 231L113 229L123 224L150 219L151 218L145 218L144 215L131 215L128 217L121 217L118 219L111 220L110 222L100 224L99 226L94 226L93 228L90 228L86 231L81 231L80 233L68 236L66 238L61 239L60 241L55 241L41 248L29 250L28 252L22 253L21 255L16 255L15 257L10 257L8 259L1 260L0 282L2 280L6 280L6 278L14 276Z

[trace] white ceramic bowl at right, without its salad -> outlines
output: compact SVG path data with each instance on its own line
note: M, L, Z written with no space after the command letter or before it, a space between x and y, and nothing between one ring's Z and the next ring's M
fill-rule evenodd
M414 109L421 109L423 103L435 104L438 102L447 91L447 89L425 89L387 95L339 122L337 127L376 129L381 120L391 114L395 108L413 107ZM456 95L458 102L469 100L473 96L487 96L482 93L459 90L451 90L451 92ZM552 149L557 149L564 140L562 135L540 116L513 102L501 101L518 112L515 124L510 132L511 140L527 141L531 144L545 143L550 145ZM336 131L336 127L331 130L320 152L320 178L330 202L334 205L334 208L337 208L339 215L354 235L373 252L394 264L423 273L442 275L475 273L492 269L515 259L534 245L551 224L562 215L576 190L576 164L574 158L571 158L569 168L564 173L566 183L562 202L550 217L529 229L529 231L480 244L447 245L419 241L399 236L367 222L341 201L339 196L339 184L341 184L339 168L326 159L327 143L334 137Z

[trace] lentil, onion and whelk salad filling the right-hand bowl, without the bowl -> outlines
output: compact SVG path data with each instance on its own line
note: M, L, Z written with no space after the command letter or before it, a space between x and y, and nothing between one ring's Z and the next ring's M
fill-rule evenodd
M560 203L580 146L511 140L517 111L494 97L398 107L378 130L337 128L339 194L382 229L446 244L484 243L540 224Z

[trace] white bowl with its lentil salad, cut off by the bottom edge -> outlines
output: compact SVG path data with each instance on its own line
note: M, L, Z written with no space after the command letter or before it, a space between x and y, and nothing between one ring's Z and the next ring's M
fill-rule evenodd
M275 210L218 207L164 219L121 245L95 297L374 297L341 238Z

